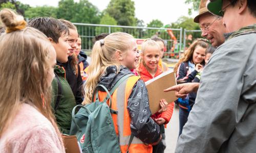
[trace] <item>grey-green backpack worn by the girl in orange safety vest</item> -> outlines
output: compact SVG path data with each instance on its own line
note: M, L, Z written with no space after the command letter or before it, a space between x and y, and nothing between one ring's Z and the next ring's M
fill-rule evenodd
M77 140L82 148L82 152L121 152L118 137L115 132L112 114L118 114L117 111L111 109L111 95L117 87L132 75L122 77L109 92L103 85L97 85L92 103L86 106L77 105L72 111L72 123L70 135L76 135ZM103 101L99 101L98 88L102 88L107 93ZM96 94L95 100L94 95ZM110 106L106 103L109 101ZM75 114L77 107L81 107ZM130 138L129 145L132 143L133 135Z

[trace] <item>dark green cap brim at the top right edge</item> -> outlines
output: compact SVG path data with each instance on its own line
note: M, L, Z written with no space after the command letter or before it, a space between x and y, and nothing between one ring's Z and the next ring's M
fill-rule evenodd
M210 13L222 16L220 13L222 9L222 0L210 0L206 3L206 7Z

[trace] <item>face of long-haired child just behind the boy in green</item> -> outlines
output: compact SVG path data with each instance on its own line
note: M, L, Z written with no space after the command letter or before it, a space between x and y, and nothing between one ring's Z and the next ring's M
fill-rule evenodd
M69 49L69 56L72 56L72 54L75 52L76 47L77 47L77 40L78 40L78 33L77 30L73 30L73 29L69 29L69 38L68 38L68 42L70 45L70 49Z

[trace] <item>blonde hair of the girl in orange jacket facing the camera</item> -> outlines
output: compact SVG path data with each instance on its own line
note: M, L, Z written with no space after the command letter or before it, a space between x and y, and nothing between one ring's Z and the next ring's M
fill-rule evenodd
M160 54L160 46L159 46L159 44L155 40L152 40L152 39L144 40L144 42L141 45L141 56L139 58L139 64L138 64L138 66L136 68L136 71L137 71L138 74L140 74L140 65L141 65L141 63L144 66L146 66L145 62L142 59L142 54L144 54L144 52L147 49L147 47L150 47L150 46L157 46L159 48L159 54Z

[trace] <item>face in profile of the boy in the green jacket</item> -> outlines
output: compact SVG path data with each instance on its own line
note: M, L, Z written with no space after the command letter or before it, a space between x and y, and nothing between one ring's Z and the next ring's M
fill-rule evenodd
M56 52L56 60L60 63L68 62L69 49L68 34L62 33L58 39L58 43L52 41L52 45Z

